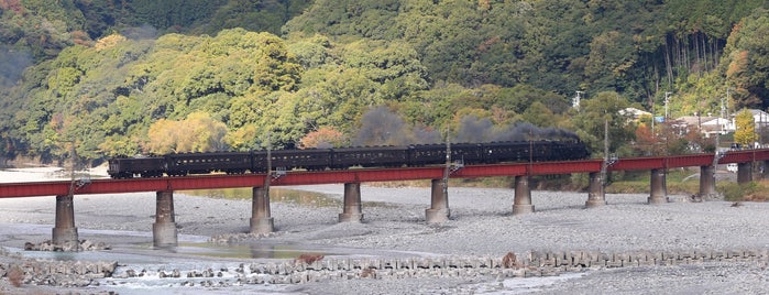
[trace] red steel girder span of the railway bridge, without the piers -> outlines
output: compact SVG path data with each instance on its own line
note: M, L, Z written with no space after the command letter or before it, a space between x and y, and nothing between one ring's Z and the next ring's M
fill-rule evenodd
M656 170L686 166L710 166L714 154L686 154L671 156L618 159L608 171ZM718 160L719 164L769 161L769 149L733 151ZM601 172L603 160L593 159L568 162L506 163L493 165L465 165L450 175L452 178L479 178L491 176L557 175ZM321 172L286 172L272 177L271 186L393 182L413 179L440 179L443 166L358 168ZM134 179L92 179L76 186L75 195L119 194L135 192L188 190L204 188L262 187L265 174L204 175L187 177L157 177ZM3 183L0 198L64 196L72 182Z

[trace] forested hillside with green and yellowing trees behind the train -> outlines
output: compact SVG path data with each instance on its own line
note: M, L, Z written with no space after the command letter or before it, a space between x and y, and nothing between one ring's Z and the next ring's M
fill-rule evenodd
M769 107L765 0L0 0L0 155L527 140ZM582 95L579 109L571 98ZM645 119L648 120L648 119ZM663 125L657 132L672 132ZM664 136L667 152L690 141ZM675 138L671 142L670 139Z

